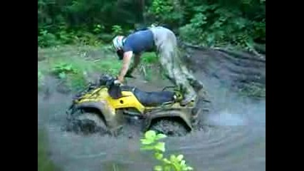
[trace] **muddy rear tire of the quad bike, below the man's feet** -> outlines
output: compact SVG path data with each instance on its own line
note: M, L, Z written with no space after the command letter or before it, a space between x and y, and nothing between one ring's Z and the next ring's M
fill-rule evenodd
M189 128L186 123L176 118L160 118L154 120L149 130L154 130L156 133L162 133L169 137L181 137L189 133Z

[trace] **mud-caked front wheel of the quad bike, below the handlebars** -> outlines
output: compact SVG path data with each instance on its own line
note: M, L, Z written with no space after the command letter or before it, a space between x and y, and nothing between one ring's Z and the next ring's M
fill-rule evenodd
M74 117L68 124L68 130L75 133L108 133L103 118L98 113L88 113L81 110L73 114Z

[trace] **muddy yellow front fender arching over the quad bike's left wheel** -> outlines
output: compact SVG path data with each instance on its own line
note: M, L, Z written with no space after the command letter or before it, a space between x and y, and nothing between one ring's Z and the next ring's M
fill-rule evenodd
M122 115L117 115L115 109L108 105L105 101L99 102L84 102L75 105L75 109L81 108L95 108L100 111L100 114L105 121L105 125L107 126L110 132L119 129L122 126Z

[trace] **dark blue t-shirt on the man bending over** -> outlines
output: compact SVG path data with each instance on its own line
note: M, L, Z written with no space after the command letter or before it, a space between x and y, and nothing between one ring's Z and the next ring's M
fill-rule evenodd
M144 51L153 51L153 47L153 33L147 29L143 31L137 31L127 36L127 38L125 38L123 51L132 51L135 54L139 54Z

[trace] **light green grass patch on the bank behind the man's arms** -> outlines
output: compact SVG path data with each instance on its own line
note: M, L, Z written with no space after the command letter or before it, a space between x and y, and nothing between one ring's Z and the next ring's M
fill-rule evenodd
M38 48L38 90L44 86L47 75L61 79L71 90L82 88L94 73L117 76L122 61L109 45L104 46L56 46ZM145 73L146 80L152 77L152 68L158 59L155 53L145 53L138 67ZM141 69L142 68L142 69Z

